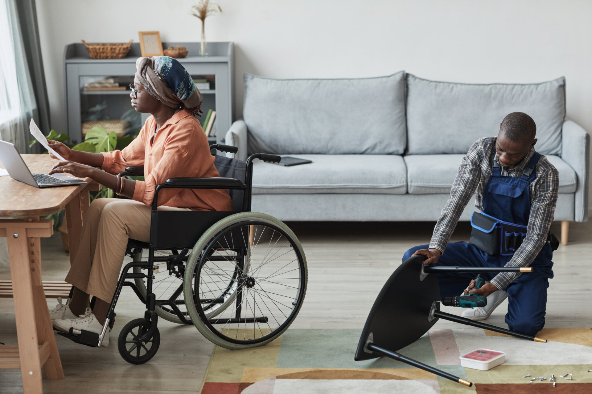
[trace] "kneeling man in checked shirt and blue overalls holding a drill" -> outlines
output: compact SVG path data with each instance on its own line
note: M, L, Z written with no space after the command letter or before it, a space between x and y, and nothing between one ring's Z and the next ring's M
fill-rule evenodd
M467 284L471 294L487 297L487 306L466 310L464 317L488 318L507 297L510 330L531 336L545 325L547 288L553 278L549 227L559 187L556 168L535 151L535 134L533 119L513 112L501 122L497 137L478 139L462 159L430 244L411 248L403 257L423 255L426 264L435 265L533 267L525 275L484 273L488 282L480 289L473 288L472 273L438 274L442 297L466 294ZM449 243L475 192L480 212L473 214L471 243Z

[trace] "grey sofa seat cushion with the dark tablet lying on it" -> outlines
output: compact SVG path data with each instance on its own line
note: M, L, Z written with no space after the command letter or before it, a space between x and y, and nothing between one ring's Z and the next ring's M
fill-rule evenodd
M310 164L284 167L255 160L253 194L405 194L407 170L398 155L297 155Z

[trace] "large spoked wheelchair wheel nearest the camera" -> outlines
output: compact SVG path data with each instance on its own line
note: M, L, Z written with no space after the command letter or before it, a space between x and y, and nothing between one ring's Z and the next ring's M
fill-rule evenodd
M285 223L263 213L233 214L195 244L185 269L185 307L218 346L262 346L294 321L307 276L302 246Z

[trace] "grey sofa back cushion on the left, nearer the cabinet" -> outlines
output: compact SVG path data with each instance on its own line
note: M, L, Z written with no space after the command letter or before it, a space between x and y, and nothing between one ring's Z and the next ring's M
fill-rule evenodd
M249 152L403 154L405 73L361 79L244 75Z

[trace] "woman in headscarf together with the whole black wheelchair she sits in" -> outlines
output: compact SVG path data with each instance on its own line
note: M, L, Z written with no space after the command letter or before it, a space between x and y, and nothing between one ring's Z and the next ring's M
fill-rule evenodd
M208 146L194 117L202 97L184 67L165 56L141 57L136 67L131 105L152 116L130 145L92 154L50 141L68 160L50 174L89 177L131 198L92 201L66 276L73 285L69 302L49 310L54 328L77 343L107 346L117 299L129 286L146 311L117 338L127 362L156 354L159 317L195 325L228 349L265 345L294 321L307 286L294 233L275 217L250 211L253 161L281 157L256 153L245 162L213 155L210 149L237 148ZM122 270L126 255L133 261Z

